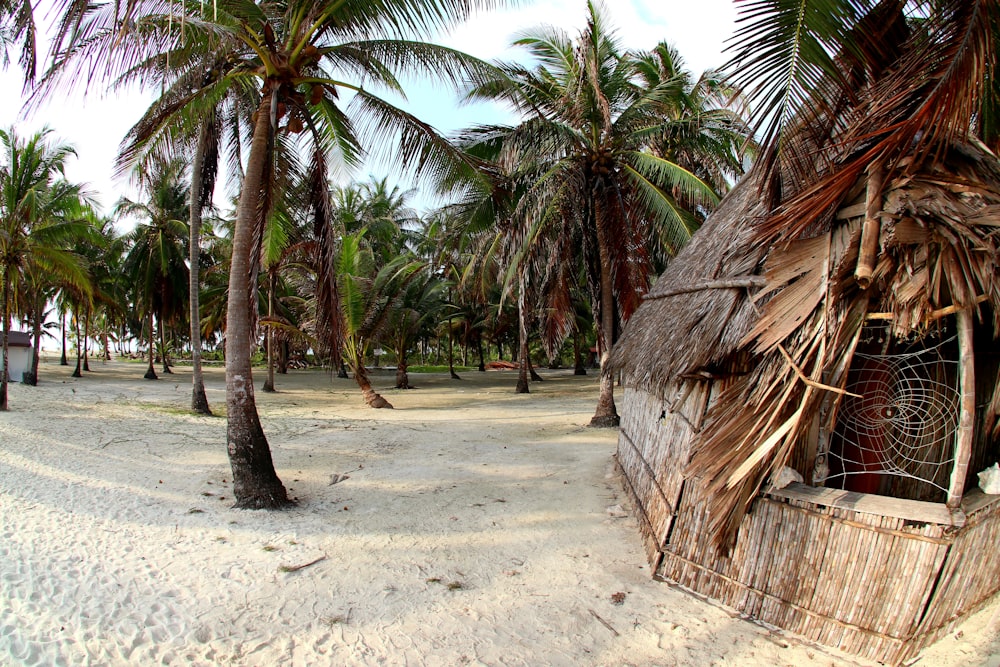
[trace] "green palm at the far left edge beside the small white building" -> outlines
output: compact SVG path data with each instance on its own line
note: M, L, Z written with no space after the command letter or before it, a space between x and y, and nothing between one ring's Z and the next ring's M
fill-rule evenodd
M72 252L86 193L61 178L73 149L49 143L50 130L22 140L13 129L0 130L0 320L3 326L3 370L0 410L7 409L8 339L15 296L32 276L46 272L89 293L87 271ZM37 302L33 307L39 321Z

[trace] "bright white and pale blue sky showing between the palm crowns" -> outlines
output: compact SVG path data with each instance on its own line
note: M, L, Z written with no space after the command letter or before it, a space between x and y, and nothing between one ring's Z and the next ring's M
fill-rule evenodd
M606 3L605 16L627 48L650 49L666 41L677 48L688 69L698 74L725 62L723 49L735 29L736 9L732 0L614 0ZM517 51L510 43L520 31L553 25L575 35L585 21L586 0L522 0L517 9L473 17L438 42L486 60L514 59ZM16 60L16 53L10 55ZM0 90L5 92L0 96L0 127L16 126L24 136L48 126L56 138L75 146L78 158L70 160L67 177L90 184L105 212L120 196L137 196L127 176L114 178L113 165L122 137L151 98L140 93L107 97L93 91L84 99L73 94L53 99L25 118L21 89L16 67L0 72ZM499 109L461 107L453 92L433 85L416 86L408 95L407 108L445 133L503 117ZM369 175L396 181L382 164L365 165L353 176L363 181ZM403 181L400 185L406 189L411 184ZM227 200L228 194L221 190L217 202ZM431 203L420 196L413 200L418 208Z

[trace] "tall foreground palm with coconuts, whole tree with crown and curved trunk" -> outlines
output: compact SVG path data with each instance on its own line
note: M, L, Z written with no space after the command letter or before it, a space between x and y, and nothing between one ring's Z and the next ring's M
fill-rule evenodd
M373 90L401 92L397 76L403 73L457 84L482 71L483 64L468 56L415 40L456 24L475 8L497 4L499 0L237 0L214 6L168 2L167 11L145 14L148 7L139 3L108 3L103 18L92 16L73 32L78 41L65 49L70 58L107 54L98 58L102 71L155 86L192 67L204 71L207 53L228 56L231 68L217 81L191 86L185 98L177 99L179 114L204 108L206 99L218 99L230 87L257 93L232 237L226 328L227 451L238 507L288 502L260 426L250 368L257 338L256 239L274 201L275 146L293 137L307 156L302 172L312 184L308 192L319 227L328 227L328 166L331 161L358 164L363 139L397 140L394 157L411 171L440 169L455 157L448 143ZM134 30L121 30L123 14ZM72 75L63 81L67 79ZM340 104L342 95L351 97L346 109ZM329 322L339 310L332 287L333 256L332 248L324 254L319 287L320 318Z

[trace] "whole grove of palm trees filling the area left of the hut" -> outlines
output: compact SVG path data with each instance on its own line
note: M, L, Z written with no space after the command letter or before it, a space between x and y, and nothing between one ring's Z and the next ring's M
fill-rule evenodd
M532 351L538 362L573 350L582 367L593 344L606 358L651 278L742 173L748 130L725 79L693 77L666 44L626 49L594 4L579 34L521 35L528 64L427 41L496 4L67 3L34 97L79 80L158 91L120 155L141 196L118 202L135 222L118 236L61 178L69 147L50 133L0 137L4 361L13 316L36 346L46 322L68 324L78 364L87 341L107 354L139 340L151 379L154 359L169 373L189 349L192 409L208 412L202 345L224 341L236 504L276 508L289 500L258 418L259 350L265 391L310 351L373 407L391 407L368 378L379 348L400 388L431 348L453 375L455 354L480 370L516 358L519 391ZM516 120L442 136L385 95L406 76ZM373 152L446 203L418 215L384 180L332 185ZM212 207L223 172L232 215ZM595 425L617 421L612 390L604 377Z

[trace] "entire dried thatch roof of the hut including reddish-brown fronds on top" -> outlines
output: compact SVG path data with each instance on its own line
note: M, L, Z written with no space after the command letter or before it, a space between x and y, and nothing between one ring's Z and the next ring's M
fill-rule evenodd
M685 471L710 493L719 546L824 402L832 430L866 319L919 335L973 312L1000 332L1000 161L971 135L993 59L986 15L959 6L931 38L901 14L877 17L889 44L838 61L852 85L804 108L624 332L612 369L652 393L753 359L709 409Z

